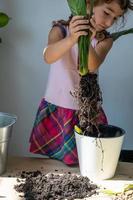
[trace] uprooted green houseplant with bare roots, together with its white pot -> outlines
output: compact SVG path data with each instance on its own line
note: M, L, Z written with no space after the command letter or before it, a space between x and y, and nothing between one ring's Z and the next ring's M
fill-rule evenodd
M90 16L87 16L86 0L67 0L72 15L84 15L90 18L94 0L91 0ZM115 41L121 35L133 33L133 29L108 34ZM102 105L102 95L97 82L97 75L89 73L88 53L90 33L81 36L79 47L79 90L74 97L79 104L79 124L75 126L76 144L82 175L95 179L111 178L117 166L125 131L111 125L98 125L97 118ZM87 109L88 108L88 109ZM113 148L111 148L113 145Z

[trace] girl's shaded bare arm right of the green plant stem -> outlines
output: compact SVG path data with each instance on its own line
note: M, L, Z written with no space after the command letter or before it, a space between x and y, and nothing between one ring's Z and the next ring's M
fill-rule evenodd
M95 49L92 47L92 45L90 45L88 62L89 72L95 72L100 67L100 65L106 58L106 55L108 54L109 50L111 49L112 45L112 38L107 38L99 42Z

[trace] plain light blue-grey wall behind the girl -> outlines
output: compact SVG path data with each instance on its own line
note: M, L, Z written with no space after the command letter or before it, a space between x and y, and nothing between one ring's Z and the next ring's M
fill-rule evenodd
M28 140L35 114L44 94L49 66L42 51L53 19L66 19L64 0L1 0L0 10L12 17L0 30L0 111L18 116L10 153L31 156ZM133 23L130 16L127 26ZM133 149L133 36L119 39L101 66L100 85L109 123L127 132L124 148Z

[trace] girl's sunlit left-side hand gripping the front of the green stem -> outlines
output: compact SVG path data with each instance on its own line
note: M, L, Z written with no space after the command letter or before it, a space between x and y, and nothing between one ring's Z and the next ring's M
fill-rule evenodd
M70 38L74 43L78 41L81 35L88 35L89 20L85 19L84 16L72 17L69 24Z

